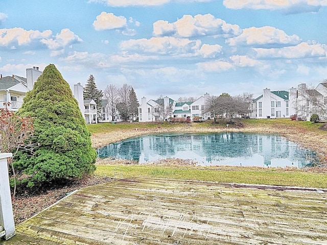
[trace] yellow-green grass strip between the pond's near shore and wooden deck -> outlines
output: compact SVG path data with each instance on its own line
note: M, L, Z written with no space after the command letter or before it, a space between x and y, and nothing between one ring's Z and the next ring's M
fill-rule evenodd
M115 176L114 176L115 173ZM123 179L167 178L222 183L259 184L327 188L327 174L297 169L258 169L254 167L191 167L161 165L97 165L98 176Z

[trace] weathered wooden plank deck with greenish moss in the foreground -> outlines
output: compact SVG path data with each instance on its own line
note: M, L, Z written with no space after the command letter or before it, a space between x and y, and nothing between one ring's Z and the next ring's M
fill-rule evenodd
M167 179L85 187L0 244L327 244L327 190Z

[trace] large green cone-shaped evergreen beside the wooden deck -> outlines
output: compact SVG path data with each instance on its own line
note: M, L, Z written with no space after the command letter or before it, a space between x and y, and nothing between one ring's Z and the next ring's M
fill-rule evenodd
M71 88L55 65L45 67L19 109L34 117L35 154L18 156L15 168L28 175L28 186L81 178L95 170L96 151Z

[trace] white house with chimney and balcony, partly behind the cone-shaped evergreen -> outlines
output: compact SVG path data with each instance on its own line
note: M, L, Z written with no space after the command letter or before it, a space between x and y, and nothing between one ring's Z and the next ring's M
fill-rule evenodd
M16 75L3 77L0 75L0 108L17 111L26 93L33 89L37 78L42 74L39 67L26 69L27 78Z

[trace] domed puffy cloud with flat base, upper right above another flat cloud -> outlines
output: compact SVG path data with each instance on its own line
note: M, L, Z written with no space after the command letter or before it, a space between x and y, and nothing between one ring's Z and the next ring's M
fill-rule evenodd
M283 30L274 27L251 27L243 30L243 33L237 37L229 38L226 43L231 46L236 45L295 45L300 42L297 35L289 36Z

